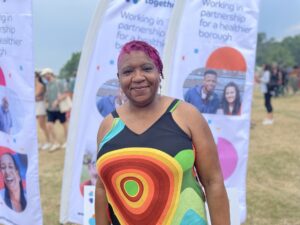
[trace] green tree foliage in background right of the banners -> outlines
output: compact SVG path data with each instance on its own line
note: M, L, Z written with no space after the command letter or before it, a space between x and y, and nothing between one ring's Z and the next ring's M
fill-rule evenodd
M282 41L267 39L265 33L258 33L256 64L277 63L280 66L294 66L300 63L300 35L287 37Z

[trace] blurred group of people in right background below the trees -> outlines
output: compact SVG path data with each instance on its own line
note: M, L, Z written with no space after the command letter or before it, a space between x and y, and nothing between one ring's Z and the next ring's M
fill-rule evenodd
M274 123L273 97L295 95L300 89L300 68L280 68L277 64L265 64L258 70L255 80L260 84L260 89L264 95L264 105L267 111L263 125Z

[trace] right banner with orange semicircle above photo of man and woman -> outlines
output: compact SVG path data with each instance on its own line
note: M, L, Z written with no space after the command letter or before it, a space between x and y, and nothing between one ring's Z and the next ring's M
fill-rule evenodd
M246 219L246 171L258 0L185 1L166 46L165 93L193 104L218 147L225 185L239 193ZM191 20L191 18L193 18Z

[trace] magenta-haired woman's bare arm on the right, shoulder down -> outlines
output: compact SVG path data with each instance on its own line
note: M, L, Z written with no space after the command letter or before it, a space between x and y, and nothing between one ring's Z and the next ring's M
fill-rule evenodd
M229 225L229 202L211 131L195 107L182 102L180 109L176 110L181 114L176 115L177 121L183 121L181 127L191 137L195 147L196 169L205 190L211 224Z

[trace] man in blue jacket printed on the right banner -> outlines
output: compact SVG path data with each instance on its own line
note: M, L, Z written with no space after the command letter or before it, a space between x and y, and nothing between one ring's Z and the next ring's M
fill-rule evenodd
M214 92L217 85L217 76L216 71L206 70L202 85L196 85L189 89L184 96L184 100L193 104L201 113L216 113L220 105L219 97Z

